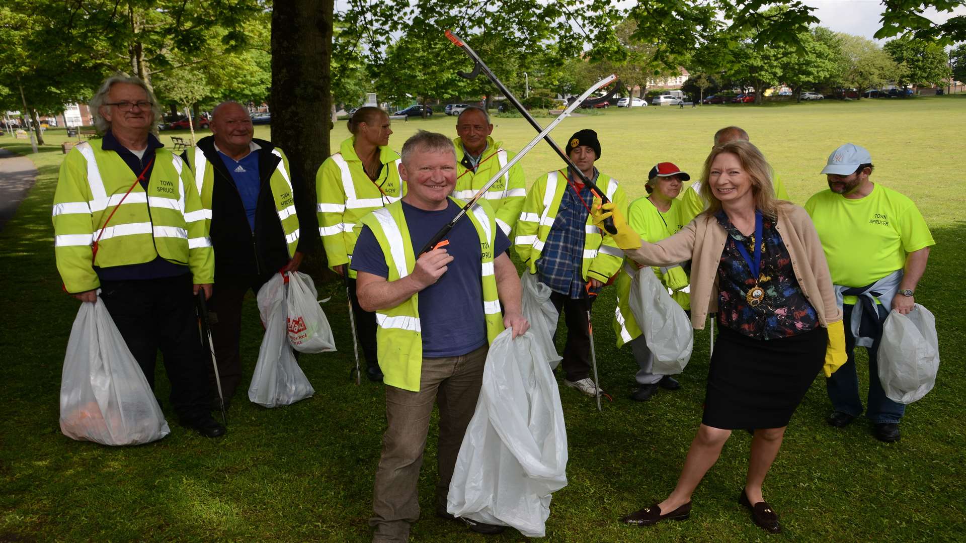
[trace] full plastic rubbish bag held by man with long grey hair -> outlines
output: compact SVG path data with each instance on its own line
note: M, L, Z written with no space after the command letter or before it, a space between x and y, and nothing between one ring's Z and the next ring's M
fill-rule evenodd
M60 425L82 442L136 445L171 433L103 300L80 304L61 376Z

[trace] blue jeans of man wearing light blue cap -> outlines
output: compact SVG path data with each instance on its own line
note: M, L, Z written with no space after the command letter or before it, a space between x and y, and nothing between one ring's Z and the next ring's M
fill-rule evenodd
M862 399L859 397L859 376L855 367L855 337L848 323L852 316L853 305L846 303L842 305L844 315L842 321L845 327L845 352L848 353L848 360L832 374L832 377L825 380L826 389L829 392L829 399L832 400L832 407L836 411L852 416L862 414ZM898 424L905 413L905 406L896 403L886 397L886 392L879 383L879 364L878 351L881 337L875 340L871 347L866 348L868 353L868 408L866 416L875 424L883 422L893 422Z

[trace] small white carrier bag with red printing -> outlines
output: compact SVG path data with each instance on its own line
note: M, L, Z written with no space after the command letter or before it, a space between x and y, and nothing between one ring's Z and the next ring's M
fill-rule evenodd
M289 272L288 328L289 343L301 353L335 351L332 327L319 305L319 293L312 277L302 272Z

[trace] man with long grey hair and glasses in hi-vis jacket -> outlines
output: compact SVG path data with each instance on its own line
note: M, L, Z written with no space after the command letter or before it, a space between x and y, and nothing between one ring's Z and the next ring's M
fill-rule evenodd
M137 77L108 77L90 108L103 139L71 150L54 193L64 288L103 301L152 389L160 349L181 423L221 436L194 297L212 294L214 255L191 170L152 133L160 109Z

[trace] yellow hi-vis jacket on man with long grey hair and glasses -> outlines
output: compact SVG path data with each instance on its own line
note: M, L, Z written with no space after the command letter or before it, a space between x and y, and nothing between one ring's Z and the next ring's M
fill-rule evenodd
M135 185L136 179L124 158L90 142L74 147L64 159L52 218L57 270L68 292L98 288L95 265L143 264L158 256L188 266L197 284L213 283L212 241L191 170L181 157L159 148L147 190Z

